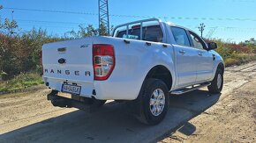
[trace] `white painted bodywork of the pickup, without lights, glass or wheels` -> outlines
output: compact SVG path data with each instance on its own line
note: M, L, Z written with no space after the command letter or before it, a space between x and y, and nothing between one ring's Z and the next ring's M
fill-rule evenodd
M160 23L163 32L163 42L150 42L113 37L89 37L45 44L42 46L42 64L44 82L49 88L61 91L64 82L77 83L81 86L81 97L95 97L104 100L134 100L147 73L155 66L161 65L169 69L172 76L172 86L169 89L183 89L198 83L210 82L215 77L222 57L215 51L200 50L188 46L178 46L169 24ZM177 26L177 25L176 25ZM106 81L94 81L92 46L93 44L110 44L114 46L116 66ZM162 45L166 45L164 47ZM86 45L86 47L81 47ZM57 48L66 47L64 53ZM180 54L183 49L186 53ZM202 56L198 53L201 52ZM213 60L215 54L215 61ZM58 59L66 59L65 64L59 64ZM46 73L45 69L49 71ZM50 72L51 70L54 73ZM61 70L61 74L57 73ZM68 70L70 75L64 74ZM79 75L73 74L79 71ZM84 72L89 71L89 75ZM96 91L96 95L93 94Z

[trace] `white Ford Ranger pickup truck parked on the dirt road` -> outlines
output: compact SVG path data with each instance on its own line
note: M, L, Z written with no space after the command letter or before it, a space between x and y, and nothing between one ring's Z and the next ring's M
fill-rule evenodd
M182 26L140 20L118 25L112 37L43 45L43 80L55 106L126 101L139 121L155 125L168 111L169 95L206 86L211 93L222 91L224 62L216 47Z

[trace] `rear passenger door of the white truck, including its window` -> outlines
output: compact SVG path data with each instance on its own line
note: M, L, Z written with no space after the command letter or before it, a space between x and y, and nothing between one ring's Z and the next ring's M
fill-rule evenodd
M177 60L177 88L183 88L196 81L197 50L191 47L187 32L180 27L171 26L170 30L176 40L174 45Z

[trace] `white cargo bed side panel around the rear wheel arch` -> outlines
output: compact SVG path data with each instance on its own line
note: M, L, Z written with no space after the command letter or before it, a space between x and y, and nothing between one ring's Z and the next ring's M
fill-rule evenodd
M162 43L127 39L130 44L125 44L124 39L100 37L94 44L110 44L115 48L116 67L107 81L95 81L94 86L98 99L133 100L139 95L144 79L151 68L162 65L169 69L173 82L174 53L173 47L163 47Z

